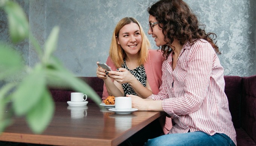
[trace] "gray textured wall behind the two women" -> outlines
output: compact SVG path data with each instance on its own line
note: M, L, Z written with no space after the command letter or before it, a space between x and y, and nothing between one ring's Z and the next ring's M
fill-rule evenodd
M256 74L255 0L185 0L206 31L217 34L219 55L225 75ZM108 57L111 35L116 23L126 16L136 18L148 31L146 8L154 0L18 0L29 16L34 36L43 46L51 29L60 27L55 52L76 76L96 76L96 61ZM0 11L0 39L8 42L6 18ZM4 26L4 27L3 27ZM149 36L153 49L157 49ZM25 41L17 46L25 62L34 66L37 56Z

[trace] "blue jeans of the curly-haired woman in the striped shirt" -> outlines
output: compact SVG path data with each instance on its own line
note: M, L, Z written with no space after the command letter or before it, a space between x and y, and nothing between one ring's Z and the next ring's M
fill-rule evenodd
M149 139L145 146L235 146L235 143L223 133L213 136L202 131L174 133Z

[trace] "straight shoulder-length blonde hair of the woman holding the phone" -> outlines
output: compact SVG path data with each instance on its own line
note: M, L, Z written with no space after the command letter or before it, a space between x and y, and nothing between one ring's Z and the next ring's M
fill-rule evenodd
M148 58L148 50L151 49L151 45L148 40L148 37L144 33L142 26L139 24L139 22L136 19L131 18L131 17L125 17L125 18L121 19L117 23L117 25L114 29L111 44L110 44L110 50L109 50L110 58L113 61L116 68L119 68L122 66L122 64L124 63L123 59L126 57L125 51L117 43L116 37L119 36L120 29L122 29L123 26L130 24L130 23L136 23L139 26L140 34L142 37L142 45L141 45L140 51L138 52L138 54L139 54L138 64L139 65L142 65L146 62L146 60Z

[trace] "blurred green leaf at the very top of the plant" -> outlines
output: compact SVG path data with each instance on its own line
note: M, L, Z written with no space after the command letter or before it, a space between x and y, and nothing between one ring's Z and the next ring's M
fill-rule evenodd
M6 1L5 12L8 15L9 31L14 43L28 37L29 24L23 9L13 1Z

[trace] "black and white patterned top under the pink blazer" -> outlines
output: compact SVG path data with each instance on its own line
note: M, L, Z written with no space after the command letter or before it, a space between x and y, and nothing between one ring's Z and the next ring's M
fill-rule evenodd
M145 72L145 68L143 65L141 66L138 66L136 69L134 70L130 70L128 69L128 67L126 66L126 62L125 62L125 59L123 60L124 61L124 64L122 65L122 68L125 68L127 70L129 70L129 72L131 74L133 74L137 80L140 81L140 83L143 85L143 86L146 86L146 79L147 79L147 76L146 76L146 72ZM137 95L135 93L135 91L133 90L133 88L131 88L130 84L129 83L123 83L122 84L122 87L123 87L123 91L125 92L125 95L126 94L132 94L132 95Z

